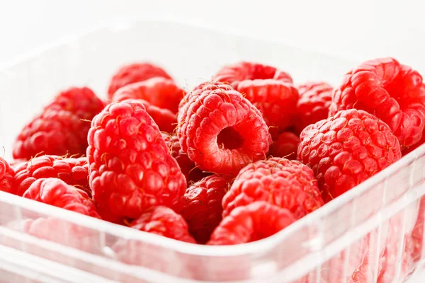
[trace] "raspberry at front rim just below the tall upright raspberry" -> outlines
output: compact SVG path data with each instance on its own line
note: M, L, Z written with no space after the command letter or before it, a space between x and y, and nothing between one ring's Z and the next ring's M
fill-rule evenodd
M159 206L148 209L132 221L129 227L187 243L196 243L189 234L188 224L183 216L176 214L168 207Z

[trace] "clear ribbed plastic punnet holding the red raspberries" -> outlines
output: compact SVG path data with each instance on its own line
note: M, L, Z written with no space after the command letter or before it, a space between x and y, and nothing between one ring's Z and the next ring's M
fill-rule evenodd
M21 127L57 91L87 85L106 97L125 62L155 62L191 88L242 59L287 70L295 83L338 83L356 64L187 23L115 21L0 69L0 144L11 156ZM403 282L424 264L424 163L421 146L280 233L239 246L181 243L0 192L0 282ZM60 236L47 241L25 229L29 221Z

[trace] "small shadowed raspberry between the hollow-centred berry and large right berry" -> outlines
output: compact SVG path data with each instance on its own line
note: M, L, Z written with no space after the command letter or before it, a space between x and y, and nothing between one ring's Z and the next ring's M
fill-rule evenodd
M300 138L293 132L283 132L278 139L273 141L268 154L273 157L297 159L297 149Z

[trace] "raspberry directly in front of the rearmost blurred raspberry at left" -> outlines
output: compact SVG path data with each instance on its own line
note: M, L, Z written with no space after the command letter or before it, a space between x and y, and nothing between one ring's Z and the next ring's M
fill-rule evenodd
M113 100L142 99L159 108L177 113L179 111L180 100L184 94L183 89L176 86L173 80L155 77L123 86L115 92Z

